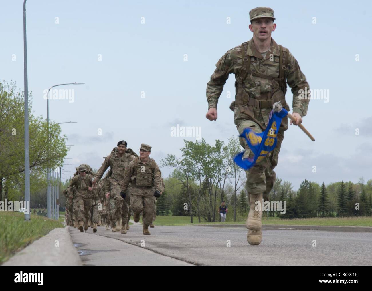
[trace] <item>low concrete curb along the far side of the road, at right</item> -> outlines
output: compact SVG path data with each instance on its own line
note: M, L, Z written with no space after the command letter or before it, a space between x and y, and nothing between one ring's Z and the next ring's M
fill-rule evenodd
M199 224L199 226L246 227L244 224ZM372 232L370 226L262 224L262 229L325 230L328 232Z

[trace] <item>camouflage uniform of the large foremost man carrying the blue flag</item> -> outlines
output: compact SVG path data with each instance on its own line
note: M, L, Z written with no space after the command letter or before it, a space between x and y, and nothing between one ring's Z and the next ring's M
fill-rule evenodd
M283 107L289 110L285 102L286 83L292 88L293 112L297 112L301 117L305 116L310 100L306 98L301 100L298 96L299 90L305 90L305 87L310 92L309 84L294 56L284 47L281 51L282 56L279 45L272 39L271 47L263 57L254 46L252 38L226 52L217 62L217 69L211 76L211 81L207 83L208 108L217 108L218 98L224 84L229 74L234 74L236 94L230 109L234 111L234 123L239 133L242 133L246 127L250 127L257 133L266 129L272 105L276 101L280 101ZM282 68L285 68L282 77L279 76L280 58L282 58ZM247 69L242 69L242 67ZM263 193L264 198L267 198L275 181L273 169L278 164L280 146L287 129L288 119L284 118L279 128L277 145L272 154L246 171L248 193ZM240 138L240 144L246 152L249 152L245 139Z

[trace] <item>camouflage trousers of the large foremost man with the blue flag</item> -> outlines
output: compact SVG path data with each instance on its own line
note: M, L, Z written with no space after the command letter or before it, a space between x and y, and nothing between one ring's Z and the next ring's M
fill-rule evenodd
M283 106L286 110L289 110L288 105ZM261 127L253 120L248 119L245 114L237 113L237 108L235 107L234 120L235 125L239 134L247 127L250 127L254 132L261 133ZM267 121L270 114L270 109L253 109L254 117L262 124L267 126ZM251 194L263 193L263 198L268 199L270 190L272 189L276 174L274 171L275 166L278 164L279 151L284 139L284 131L288 129L288 119L287 117L282 119L280 124L277 143L273 152L271 152L266 158L263 158L260 162L257 162L252 168L246 171L246 190ZM239 138L240 145L247 151L249 146L244 138ZM249 157L251 158L253 153L250 152Z

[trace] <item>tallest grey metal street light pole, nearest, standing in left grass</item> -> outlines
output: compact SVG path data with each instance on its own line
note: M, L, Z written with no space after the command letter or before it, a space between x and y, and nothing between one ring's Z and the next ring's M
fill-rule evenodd
M29 149L29 130L28 130L28 78L27 78L27 37L26 37L26 0L23 1L23 63L25 78L25 201L31 211L30 199L30 149ZM25 212L25 221L31 220L31 213Z

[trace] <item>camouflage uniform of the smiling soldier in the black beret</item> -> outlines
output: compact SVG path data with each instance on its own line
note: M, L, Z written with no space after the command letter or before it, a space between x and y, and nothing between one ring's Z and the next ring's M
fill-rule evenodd
M96 174L96 180L99 180L106 169L111 166L111 176L109 178L109 208L111 227L115 227L115 224L119 219L120 221L124 222L123 224L125 225L128 219L129 197L123 199L120 196L120 184L124 178L125 166L135 158L135 156L129 152L124 152L122 156L119 156L117 150L115 149L105 158L105 161L102 163L102 166L99 168ZM122 223L120 223L120 225L121 224Z

